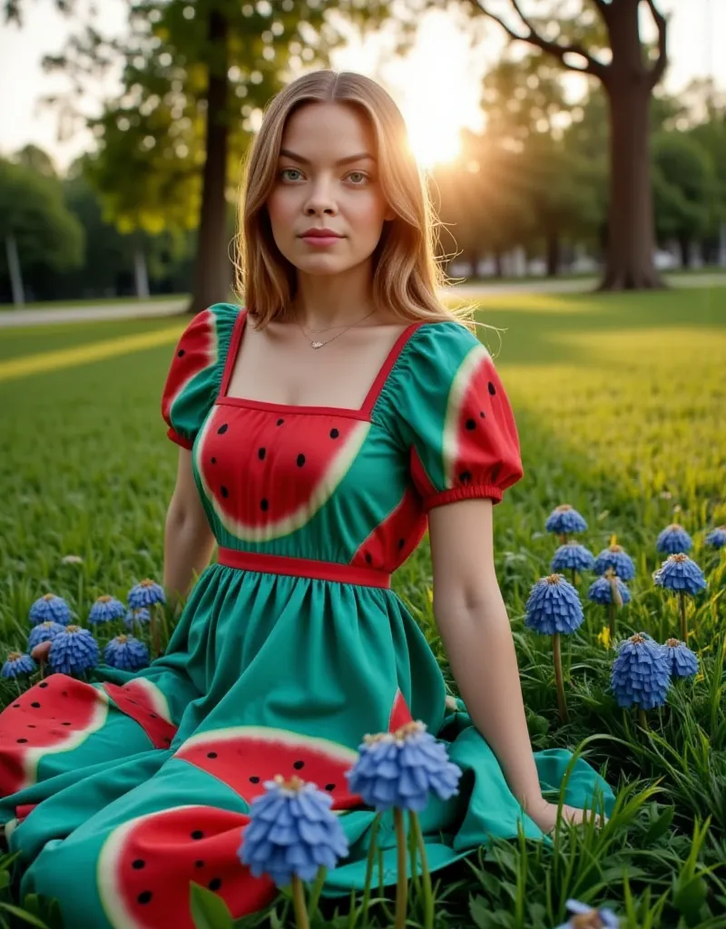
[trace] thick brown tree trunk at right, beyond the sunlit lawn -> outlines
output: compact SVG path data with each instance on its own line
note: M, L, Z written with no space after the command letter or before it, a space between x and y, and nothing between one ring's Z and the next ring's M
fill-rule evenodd
M643 64L638 7L632 0L610 5L613 59L603 85L610 109L610 203L601 290L665 286L653 264L652 80Z

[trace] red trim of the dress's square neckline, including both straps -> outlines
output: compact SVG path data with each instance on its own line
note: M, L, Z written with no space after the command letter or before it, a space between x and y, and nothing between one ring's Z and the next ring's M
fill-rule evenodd
M232 330L230 347L227 352L227 358L224 361L224 371L222 373L222 381L221 385L219 386L219 392L217 395L217 403L227 406L248 407L252 410L267 410L269 412L330 414L335 416L345 415L356 419L369 419L370 414L376 405L376 400L378 399L383 386L388 381L389 374L393 370L393 366L396 363L396 360L398 360L403 346L405 346L411 336L416 332L416 329L424 324L424 320L412 322L409 326L406 326L406 328L403 330L403 333L399 334L398 338L390 348L389 353L386 356L386 360L384 360L383 364L379 368L373 384L368 389L368 392L365 395L365 399L363 400L363 405L358 409L353 409L351 407L331 407L297 403L273 403L269 400L256 400L246 397L228 396L227 391L230 387L231 374L234 370L235 362L239 357L240 349L242 347L246 323L247 310L243 307L240 309L239 315L234 321L234 329Z

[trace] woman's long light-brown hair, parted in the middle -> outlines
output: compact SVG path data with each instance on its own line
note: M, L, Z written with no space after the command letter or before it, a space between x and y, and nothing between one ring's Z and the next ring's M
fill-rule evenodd
M296 268L272 238L266 203L276 181L285 124L307 103L355 107L372 126L381 189L396 213L384 222L373 253L376 308L387 307L402 323L458 321L475 332L475 326L483 325L473 319L476 303L459 300L450 308L436 293L455 281L435 257L442 224L431 203L428 178L410 150L401 111L369 77L326 69L303 74L271 99L244 156L234 290L257 326L288 318L296 291Z

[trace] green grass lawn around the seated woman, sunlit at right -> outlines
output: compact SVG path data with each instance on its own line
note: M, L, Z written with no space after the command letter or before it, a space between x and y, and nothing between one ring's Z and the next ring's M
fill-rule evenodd
M482 302L480 319L506 328L497 353L521 436L525 478L495 509L495 557L512 623L535 750L583 739L618 805L602 830L562 829L554 849L497 842L435 873L439 929L546 929L564 922L569 896L613 906L627 929L726 926L726 556L706 550L726 522L726 289L628 295L516 294ZM159 321L157 321L158 323ZM104 323L124 334L148 321ZM164 323L167 324L167 323ZM94 324L100 325L100 324ZM83 334L77 327L66 327ZM42 335L68 345L66 328ZM70 334L69 334L70 337ZM105 337L105 336L99 336ZM19 334L33 345L33 333ZM20 342L18 343L20 345ZM161 577L165 508L176 450L159 413L169 347L0 384L0 648L22 647L33 600L52 589L83 613L103 593ZM587 518L594 552L615 535L634 557L632 603L619 635L678 635L674 602L653 586L657 532L673 519L693 534L708 590L695 601L689 639L698 679L671 688L649 713L650 732L607 693L613 651L598 641L603 608L563 645L570 722L561 725L551 643L525 630L524 603L557 545L544 532L560 503ZM62 556L79 555L81 565ZM582 579L585 599L590 577ZM451 680L431 615L423 544L394 577ZM9 688L0 691L5 700ZM413 894L411 919L422 924ZM348 926L330 901L315 923ZM245 925L292 925L267 914ZM368 922L390 926L375 904Z

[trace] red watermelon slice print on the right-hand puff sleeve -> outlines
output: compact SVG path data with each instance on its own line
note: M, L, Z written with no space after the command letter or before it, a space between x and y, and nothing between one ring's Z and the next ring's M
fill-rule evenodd
M494 485L503 461L519 462L517 428L491 356L479 343L462 361L449 392L443 426L444 488L472 481ZM509 483L513 479L512 475Z

